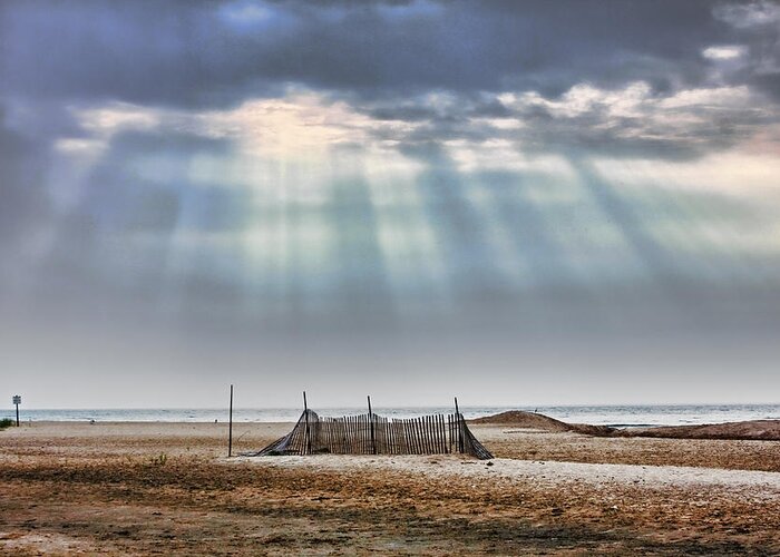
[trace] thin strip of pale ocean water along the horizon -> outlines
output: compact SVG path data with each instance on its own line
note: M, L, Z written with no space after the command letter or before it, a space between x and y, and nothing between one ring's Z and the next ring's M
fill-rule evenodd
M365 408L316 408L321 416L364 413ZM381 408L374 413L388 418L409 418L435 412L452 412L451 407ZM617 428L688 426L742 420L780 420L780 404L671 404L671 405L539 405L539 407L461 407L466 419L490 416L506 410L537 411L573 423L592 423ZM238 408L235 422L290 422L298 420L300 408ZM0 411L0 418L16 418L14 410ZM227 409L26 409L20 420L28 421L143 421L213 422L227 421Z

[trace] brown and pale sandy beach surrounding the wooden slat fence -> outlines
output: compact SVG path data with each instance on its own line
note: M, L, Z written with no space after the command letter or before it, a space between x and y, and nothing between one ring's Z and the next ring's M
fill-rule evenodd
M0 432L8 555L780 551L780 443L471 423L494 455L227 458L225 423ZM292 423L234 424L234 453Z

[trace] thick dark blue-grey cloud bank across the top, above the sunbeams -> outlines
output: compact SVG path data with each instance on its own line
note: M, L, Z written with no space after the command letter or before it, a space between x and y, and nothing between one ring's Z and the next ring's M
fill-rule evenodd
M228 105L284 82L382 96L708 78L710 1L3 2L9 96ZM741 33L762 30L739 30Z

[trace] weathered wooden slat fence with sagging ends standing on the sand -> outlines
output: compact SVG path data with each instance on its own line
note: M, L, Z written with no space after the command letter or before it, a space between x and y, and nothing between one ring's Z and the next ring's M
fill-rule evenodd
M373 412L341 418L304 410L293 430L252 457L274 455L493 455L474 437L460 412L388 419Z

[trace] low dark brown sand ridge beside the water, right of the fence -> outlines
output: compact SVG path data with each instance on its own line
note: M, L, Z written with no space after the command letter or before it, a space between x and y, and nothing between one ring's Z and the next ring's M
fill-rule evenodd
M749 420L703 426L664 426L641 429L616 429L607 426L566 423L548 416L523 410L509 410L485 418L469 420L472 423L514 426L542 431L572 431L595 437L655 437L669 439L732 439L780 441L780 420Z

